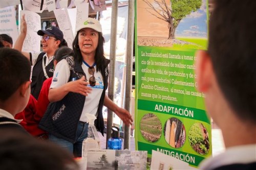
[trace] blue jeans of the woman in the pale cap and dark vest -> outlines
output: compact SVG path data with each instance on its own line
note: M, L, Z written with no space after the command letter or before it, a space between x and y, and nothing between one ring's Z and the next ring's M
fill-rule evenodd
M74 157L82 157L82 141L88 136L88 124L79 122L76 131L76 140L71 143L65 139L58 138L49 134L49 140L58 144L61 148L69 150Z

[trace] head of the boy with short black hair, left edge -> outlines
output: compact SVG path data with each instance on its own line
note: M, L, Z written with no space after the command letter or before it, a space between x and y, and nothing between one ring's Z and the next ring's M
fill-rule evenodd
M17 106L16 113L22 111L29 100L31 65L19 51L12 48L0 48L0 104L12 103ZM2 108L4 109L4 108ZM15 113L15 114L16 114Z

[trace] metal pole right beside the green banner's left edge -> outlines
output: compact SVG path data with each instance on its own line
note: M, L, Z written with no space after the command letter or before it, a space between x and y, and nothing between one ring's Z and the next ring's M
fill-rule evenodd
M125 90L125 109L131 113L131 93L132 93L132 72L133 72L133 39L134 39L134 1L129 1L128 9L128 30L126 45L126 90ZM124 149L130 150L131 127L124 125Z

